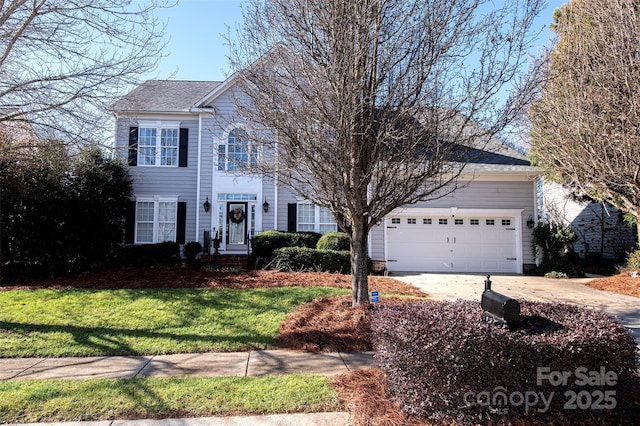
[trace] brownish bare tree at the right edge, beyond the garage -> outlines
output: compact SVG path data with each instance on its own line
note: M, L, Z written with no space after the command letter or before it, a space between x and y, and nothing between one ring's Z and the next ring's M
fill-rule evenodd
M556 10L531 155L576 192L640 216L640 5L572 0Z

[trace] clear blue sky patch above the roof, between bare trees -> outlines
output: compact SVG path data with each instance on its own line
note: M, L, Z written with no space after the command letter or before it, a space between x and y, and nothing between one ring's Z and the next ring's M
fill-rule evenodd
M495 0L498 4L501 0ZM536 26L544 28L540 44L546 44L553 10L565 0L547 0L547 8ZM243 0L179 0L179 4L160 11L168 20L165 58L158 69L144 79L224 80L229 74L229 48L224 34L242 22Z

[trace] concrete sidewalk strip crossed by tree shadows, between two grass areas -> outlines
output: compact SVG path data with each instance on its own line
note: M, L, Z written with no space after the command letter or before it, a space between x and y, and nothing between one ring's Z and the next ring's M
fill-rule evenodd
M0 359L0 380L184 376L336 375L374 366L373 352L309 353L288 350L157 356Z

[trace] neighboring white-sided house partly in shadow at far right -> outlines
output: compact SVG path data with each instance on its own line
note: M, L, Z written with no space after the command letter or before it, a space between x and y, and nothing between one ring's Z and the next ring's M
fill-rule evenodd
M545 182L542 211L550 219L571 226L578 240L574 252L589 261L619 260L636 246L636 230L609 203L578 200L560 184Z

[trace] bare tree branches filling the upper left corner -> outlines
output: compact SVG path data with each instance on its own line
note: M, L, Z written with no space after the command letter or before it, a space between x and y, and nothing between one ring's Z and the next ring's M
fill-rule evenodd
M0 126L104 139L107 106L152 71L164 47L163 0L0 2ZM107 127L108 126L108 127ZM100 139L98 139L100 138Z

